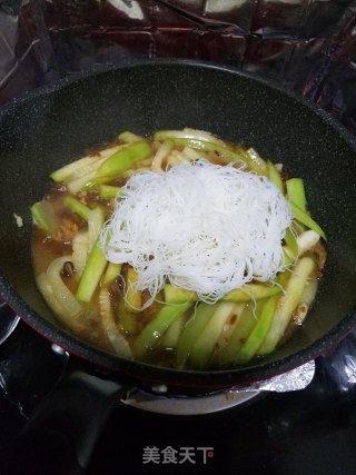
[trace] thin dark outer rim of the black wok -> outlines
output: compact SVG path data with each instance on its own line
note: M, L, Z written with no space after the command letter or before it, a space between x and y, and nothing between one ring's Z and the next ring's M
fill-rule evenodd
M309 101L305 97L286 89L285 87L273 82L269 79L257 77L256 75L240 71L238 68L217 62L208 62L190 59L132 59L125 60L120 63L97 65L86 71L76 72L70 77L59 79L51 85L44 85L32 91L23 93L19 98L14 98L0 108L1 116L8 113L12 108L37 97L46 96L49 92L62 89L82 79L93 77L100 73L116 71L120 69L130 69L136 67L156 67L156 66L187 66L200 69L214 69L226 71L238 77L246 78L253 82L261 83L265 87L271 88L283 95L294 99L304 107L312 110L318 118L329 127L332 127L346 144L356 152L356 137L353 136L342 123L333 118L328 112L322 109L316 103ZM246 385L256 380L270 378L275 375L286 373L295 367L298 367L310 359L314 359L320 354L326 353L336 346L346 335L356 326L356 311L350 309L344 318L336 324L323 337L301 348L299 352L286 356L276 362L264 363L260 360L255 367L245 368L244 366L231 369L216 370L182 370L174 368L164 368L145 364L138 360L126 359L113 354L109 354L102 349L96 348L85 340L71 335L59 325L53 325L34 310L32 310L24 299L22 299L16 289L7 281L6 277L0 274L0 294L2 294L7 304L27 323L32 329L38 331L44 338L58 344L70 354L101 367L109 369L116 374L128 375L145 382L165 383L172 386L182 387L208 387L222 388L236 385Z

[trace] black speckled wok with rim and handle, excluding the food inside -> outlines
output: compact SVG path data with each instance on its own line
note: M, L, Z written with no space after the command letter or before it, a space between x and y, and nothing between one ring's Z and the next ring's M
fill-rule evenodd
M29 207L43 196L53 169L126 129L145 135L184 127L254 146L264 157L283 162L291 176L304 178L309 207L328 236L324 278L305 325L273 355L230 370L154 367L78 339L47 307L31 268ZM70 441L73 433L83 434L80 442L73 441L75 466L82 467L109 403L132 384L127 377L184 392L212 390L289 370L336 345L356 323L355 151L355 140L315 106L266 81L211 63L136 61L99 68L4 107L0 111L0 291L37 331L91 362L89 369L103 368L111 379L112 374L119 375L116 384L102 380L102 370L99 379L83 373L71 375L37 413L33 426L42 434L46 426L57 427ZM14 214L22 217L23 227L17 226ZM102 399L92 395L92 388ZM46 414L55 406L60 414L49 422ZM68 408L76 417L63 417ZM43 437L34 445L42 444ZM53 446L58 447L58 441Z

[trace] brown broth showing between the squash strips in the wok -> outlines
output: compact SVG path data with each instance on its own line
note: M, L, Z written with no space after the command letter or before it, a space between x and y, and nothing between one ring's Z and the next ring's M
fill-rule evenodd
M181 149L181 148L180 148ZM209 159L214 164L222 165L222 160L218 156L210 154ZM140 164L136 165L135 168L139 168ZM284 177L283 177L284 178ZM127 179L119 178L110 182L113 186L123 186ZM33 227L32 234L32 260L33 271L38 276L41 273L46 273L49 264L61 256L69 256L72 254L72 237L78 230L86 230L88 225L76 214L63 206L63 199L70 195L65 186L53 185L44 196L44 200L51 204L57 217L58 217L58 229L51 236L48 236L43 230ZM105 206L107 209L107 217L113 209L112 200L103 200L98 196L97 191L83 192L80 191L73 195L77 199L86 206L93 208L98 205ZM314 278L320 275L320 254L325 254L323 245L318 245L316 251L309 251L309 255L318 263L317 271ZM75 269L72 276L63 276L62 279L67 287L72 294L77 291L79 284L79 276ZM121 275L112 283L108 288L110 293L110 304L112 309L112 316L117 327L121 334L126 337L128 343L132 346L136 337L140 331L149 324L159 311L161 304L155 301L150 307L142 311L129 311L125 310L125 293L122 281L125 281L125 266ZM71 328L83 340L102 348L106 352L112 353L110 340L102 328L100 305L99 305L99 285L96 290L90 304L86 305L85 313L78 318L76 327ZM142 301L147 299L148 295L142 293ZM162 301L164 296L160 294L157 298L158 301ZM191 310L192 311L192 310ZM185 316L185 324L191 317L191 311L188 311ZM231 325L235 323L231 320ZM296 328L289 328L290 335ZM171 347L158 346L151 352L148 352L145 360L160 366L175 366L176 350Z

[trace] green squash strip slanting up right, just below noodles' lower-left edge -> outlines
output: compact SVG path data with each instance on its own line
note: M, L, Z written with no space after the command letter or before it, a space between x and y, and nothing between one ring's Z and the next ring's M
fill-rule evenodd
M138 359L142 359L146 353L156 346L161 335L174 323L174 320L190 307L190 303L182 305L165 305L154 320L151 320L136 338L134 344L135 356Z

